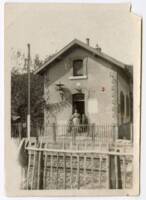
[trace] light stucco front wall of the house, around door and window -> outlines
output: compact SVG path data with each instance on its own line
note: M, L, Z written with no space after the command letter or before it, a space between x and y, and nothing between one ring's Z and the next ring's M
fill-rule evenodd
M86 79L73 80L72 60L83 58L87 71ZM119 79L119 82L123 81ZM61 100L56 84L64 84L64 100ZM111 64L95 58L83 49L76 49L54 63L44 74L45 134L49 124L67 124L72 115L72 94L80 84L85 94L85 114L90 123L115 124L117 123L117 71ZM124 88L124 81L120 84ZM125 89L124 91L127 91Z

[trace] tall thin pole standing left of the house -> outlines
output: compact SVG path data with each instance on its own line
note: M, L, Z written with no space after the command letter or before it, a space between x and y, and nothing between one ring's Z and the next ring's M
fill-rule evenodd
M27 110L27 138L30 139L31 132L31 118L30 118L30 44L27 44L27 75L28 75L28 110Z

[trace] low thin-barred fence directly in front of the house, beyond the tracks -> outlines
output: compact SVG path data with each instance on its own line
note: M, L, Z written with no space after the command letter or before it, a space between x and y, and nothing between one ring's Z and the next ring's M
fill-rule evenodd
M11 126L11 137L23 138L27 136L26 127L23 127L21 123L12 124ZM68 125L56 125L51 124L44 130L43 126L31 126L31 137L48 136L53 141L60 138L64 140L72 137L73 140L76 138L87 138L92 139L92 141L98 139L101 143L112 143L117 138L132 140L132 124L126 123L120 126L117 125L79 125L79 126L68 126Z

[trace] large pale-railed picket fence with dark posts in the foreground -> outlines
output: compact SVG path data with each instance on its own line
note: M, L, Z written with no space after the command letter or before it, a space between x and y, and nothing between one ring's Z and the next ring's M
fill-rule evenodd
M119 143L109 149L51 147L42 140L27 141L23 189L132 188L131 144Z

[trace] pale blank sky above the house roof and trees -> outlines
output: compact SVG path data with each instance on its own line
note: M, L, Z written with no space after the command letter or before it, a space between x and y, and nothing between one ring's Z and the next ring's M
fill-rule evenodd
M5 8L6 57L12 48L24 51L31 44L31 56L43 59L63 48L74 38L90 38L114 58L135 62L139 43L139 23L130 13L130 4L7 4ZM26 54L27 55L27 54Z

